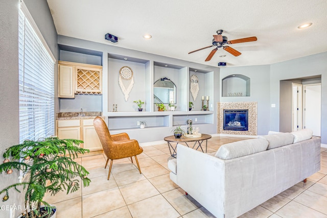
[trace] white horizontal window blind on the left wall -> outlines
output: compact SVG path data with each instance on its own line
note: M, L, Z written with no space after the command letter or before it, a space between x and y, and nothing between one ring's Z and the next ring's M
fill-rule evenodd
M19 9L19 141L54 135L54 60Z

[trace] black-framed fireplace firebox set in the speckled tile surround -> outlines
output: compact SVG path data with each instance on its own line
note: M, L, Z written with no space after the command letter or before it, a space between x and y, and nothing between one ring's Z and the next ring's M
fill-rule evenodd
M224 109L223 130L247 131L248 110L247 109Z

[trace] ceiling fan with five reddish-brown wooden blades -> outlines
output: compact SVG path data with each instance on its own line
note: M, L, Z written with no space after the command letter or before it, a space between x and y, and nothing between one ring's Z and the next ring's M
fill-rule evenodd
M209 45L209 46L206 46L206 47L202 47L201 49L194 50L192 52L189 52L189 54L192 54L194 52L198 52L198 51L203 50L203 49L207 49L208 47L216 46L216 49L213 49L213 51L211 51L211 53L208 55L208 57L206 57L205 61L211 60L213 58L213 56L215 55L215 53L217 52L219 47L223 47L223 49L226 52L229 52L233 56L239 56L239 55L241 55L241 53L239 51L237 51L237 50L233 49L232 47L230 47L228 45L225 45L225 44L236 44L236 43L241 43L241 42L256 41L255 36L227 41L227 37L222 35L223 32L224 32L223 30L217 30L218 35L213 35L214 36L213 45Z

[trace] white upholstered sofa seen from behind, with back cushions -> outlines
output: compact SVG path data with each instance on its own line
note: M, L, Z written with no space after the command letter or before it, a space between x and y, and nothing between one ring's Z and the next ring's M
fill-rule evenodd
M216 217L237 217L320 170L320 137L309 135L261 136L211 155L178 144L170 178Z

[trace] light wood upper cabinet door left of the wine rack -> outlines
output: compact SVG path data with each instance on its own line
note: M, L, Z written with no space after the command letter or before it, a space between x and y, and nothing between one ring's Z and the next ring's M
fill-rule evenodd
M74 93L74 67L58 65L59 67L59 98L75 98Z

